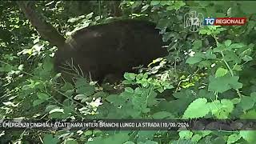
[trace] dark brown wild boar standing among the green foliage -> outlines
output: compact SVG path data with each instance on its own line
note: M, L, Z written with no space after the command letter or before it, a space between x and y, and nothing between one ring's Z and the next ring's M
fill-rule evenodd
M64 73L77 70L94 81L102 82L108 74L121 77L134 66L147 66L167 54L155 24L141 20L122 20L78 30L58 49L55 65ZM72 61L71 61L72 59Z

